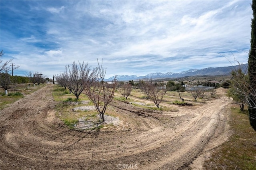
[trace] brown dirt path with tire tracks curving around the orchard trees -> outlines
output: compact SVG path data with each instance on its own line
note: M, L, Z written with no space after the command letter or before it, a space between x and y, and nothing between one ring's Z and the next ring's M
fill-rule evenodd
M187 169L228 136L227 105L221 97L201 107L154 113L112 104L122 128L76 131L55 117L52 85L0 113L0 169Z

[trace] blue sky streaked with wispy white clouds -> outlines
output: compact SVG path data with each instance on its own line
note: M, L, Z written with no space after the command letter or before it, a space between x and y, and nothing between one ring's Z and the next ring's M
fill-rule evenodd
M2 60L52 78L75 61L144 76L247 63L251 0L0 0Z

